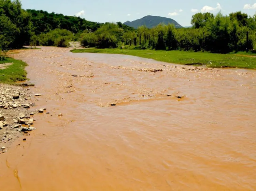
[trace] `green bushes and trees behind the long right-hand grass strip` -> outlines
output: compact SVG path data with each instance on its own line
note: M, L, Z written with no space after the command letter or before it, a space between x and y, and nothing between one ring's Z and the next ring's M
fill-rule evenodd
M192 28L177 29L171 24L159 24L152 29L140 26L136 31L120 30L112 24L111 29L103 24L94 33L81 35L85 47L155 50L193 50L213 53L248 51L256 48L256 16L236 12L229 16L221 13L197 13L191 19ZM109 23L107 24L109 25ZM115 26L114 26L115 25ZM120 31L116 33L115 31ZM100 34L100 35L99 35ZM97 42L104 39L105 46ZM111 38L110 38L111 37ZM107 42L109 41L109 42Z

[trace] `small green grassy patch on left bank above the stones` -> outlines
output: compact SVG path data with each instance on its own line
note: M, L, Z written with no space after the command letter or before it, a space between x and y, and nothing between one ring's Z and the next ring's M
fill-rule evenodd
M10 65L5 67L6 63L10 63ZM27 80L26 66L25 62L13 58L0 61L0 83L13 84L17 81Z

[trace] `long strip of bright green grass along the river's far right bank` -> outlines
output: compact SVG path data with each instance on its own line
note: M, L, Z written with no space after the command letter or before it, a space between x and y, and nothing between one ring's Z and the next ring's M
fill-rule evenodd
M151 58L154 60L185 64L185 65L205 65L213 68L236 67L256 69L256 54L238 52L236 54L214 54L209 52L185 52L185 51L164 51L164 50L124 50L124 49L77 49L73 53L107 53L125 54Z

